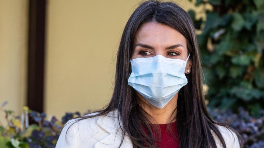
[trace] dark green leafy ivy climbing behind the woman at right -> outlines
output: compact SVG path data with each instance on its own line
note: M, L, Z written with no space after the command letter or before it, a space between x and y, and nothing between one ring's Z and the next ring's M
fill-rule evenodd
M191 0L190 0L191 1ZM264 1L196 0L210 3L206 21L188 11L201 50L204 83L209 107L243 106L254 117L264 108ZM205 8L205 7L204 7Z

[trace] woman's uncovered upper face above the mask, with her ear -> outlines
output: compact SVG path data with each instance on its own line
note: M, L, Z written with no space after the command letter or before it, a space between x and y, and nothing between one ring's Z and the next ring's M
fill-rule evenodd
M135 34L131 60L156 55L186 61L188 52L185 37L172 27L161 23L143 24ZM191 70L190 59L187 61L185 73L187 69Z

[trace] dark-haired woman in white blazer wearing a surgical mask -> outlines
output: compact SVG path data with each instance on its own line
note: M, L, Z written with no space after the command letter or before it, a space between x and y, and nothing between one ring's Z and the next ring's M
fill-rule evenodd
M188 14L172 2L145 1L122 34L111 101L69 120L56 148L238 148L240 138L206 110Z

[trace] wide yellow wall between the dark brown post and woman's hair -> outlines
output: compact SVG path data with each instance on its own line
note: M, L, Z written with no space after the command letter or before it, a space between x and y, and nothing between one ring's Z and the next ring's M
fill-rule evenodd
M115 54L138 2L48 1L45 112L49 116L84 113L109 101ZM194 7L188 0L175 2L185 10ZM202 7L196 10L200 13Z

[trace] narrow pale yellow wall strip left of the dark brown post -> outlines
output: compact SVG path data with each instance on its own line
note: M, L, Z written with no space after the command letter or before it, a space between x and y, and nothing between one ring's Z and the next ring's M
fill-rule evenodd
M26 104L27 0L0 0L0 105L21 115ZM0 121L6 125L4 112Z

